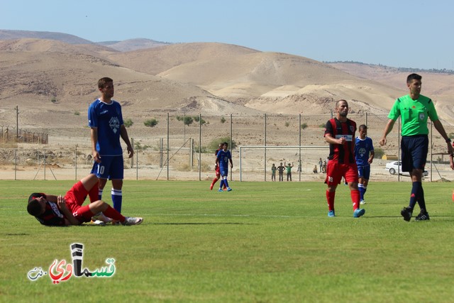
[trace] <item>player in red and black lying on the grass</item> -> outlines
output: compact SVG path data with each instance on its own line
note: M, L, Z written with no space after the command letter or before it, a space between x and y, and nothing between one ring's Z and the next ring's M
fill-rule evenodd
M90 204L82 206L89 196ZM74 184L65 197L52 194L33 193L28 198L28 214L35 216L40 224L47 226L80 225L92 217L104 214L123 225L137 225L142 218L120 214L106 202L98 199L98 178L90 174ZM104 217L105 217L104 216Z

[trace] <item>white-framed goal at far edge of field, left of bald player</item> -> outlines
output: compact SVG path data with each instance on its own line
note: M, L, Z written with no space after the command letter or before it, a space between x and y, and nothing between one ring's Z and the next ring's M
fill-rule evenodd
M329 145L264 146L244 145L239 147L240 182L248 180L271 180L271 167L290 163L294 180L301 181L301 174L313 174L314 165L319 170L319 160L329 155ZM267 177L267 175L270 177ZM278 172L276 172L278 175ZM286 173L284 172L284 177ZM247 179L247 180L245 180Z

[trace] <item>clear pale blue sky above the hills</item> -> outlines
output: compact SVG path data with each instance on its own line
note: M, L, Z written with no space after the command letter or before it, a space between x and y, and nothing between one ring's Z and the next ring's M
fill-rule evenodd
M0 29L219 42L319 61L454 70L454 1L0 0Z

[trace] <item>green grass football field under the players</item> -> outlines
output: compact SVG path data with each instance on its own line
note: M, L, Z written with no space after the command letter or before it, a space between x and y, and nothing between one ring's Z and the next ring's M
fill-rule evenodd
M451 183L423 184L423 222L400 216L409 182L373 181L360 219L343 185L328 218L322 182L231 182L221 193L209 182L126 180L123 214L143 216L140 226L50 228L27 214L31 192L72 184L0 181L1 302L453 300ZM114 258L115 274L28 280L33 268L71 262L71 243L84 244L84 268Z

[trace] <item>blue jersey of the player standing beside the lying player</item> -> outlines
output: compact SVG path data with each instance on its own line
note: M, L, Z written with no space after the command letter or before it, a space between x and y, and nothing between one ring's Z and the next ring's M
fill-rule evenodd
M120 128L123 125L121 105L112 100L107 104L96 99L88 109L88 126L98 128L96 150L99 155L123 155Z

